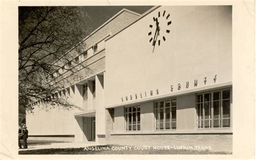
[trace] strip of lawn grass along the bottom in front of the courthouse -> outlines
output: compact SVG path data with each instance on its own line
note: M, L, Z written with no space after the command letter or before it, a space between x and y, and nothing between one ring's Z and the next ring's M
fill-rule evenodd
M112 148L120 145L104 145ZM103 147L103 145L98 145ZM231 152L210 150L84 150L84 148L55 148L19 151L19 155L229 155Z

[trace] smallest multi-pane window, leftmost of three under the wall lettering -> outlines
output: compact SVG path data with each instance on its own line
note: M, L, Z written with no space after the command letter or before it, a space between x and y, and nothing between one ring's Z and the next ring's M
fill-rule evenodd
M125 130L140 130L140 106L124 108Z

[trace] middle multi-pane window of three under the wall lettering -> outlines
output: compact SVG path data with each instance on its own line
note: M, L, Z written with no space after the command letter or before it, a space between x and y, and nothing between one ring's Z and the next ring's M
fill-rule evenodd
M154 102L154 129L176 129L176 99Z

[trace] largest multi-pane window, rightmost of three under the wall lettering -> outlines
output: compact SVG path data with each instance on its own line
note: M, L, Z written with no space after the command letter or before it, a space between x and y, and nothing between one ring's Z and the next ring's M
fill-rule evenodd
M197 94L197 128L230 127L230 89Z

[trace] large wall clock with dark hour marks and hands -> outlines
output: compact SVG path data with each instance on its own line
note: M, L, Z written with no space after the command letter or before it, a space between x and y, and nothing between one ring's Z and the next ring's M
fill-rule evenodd
M165 10L163 12L158 12L158 15L152 18L152 23L149 25L150 32L147 33L149 38L149 43L154 47L156 45L160 46L161 43L166 41L166 34L170 33L170 25L172 24L170 14Z

